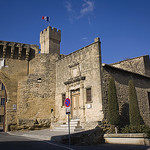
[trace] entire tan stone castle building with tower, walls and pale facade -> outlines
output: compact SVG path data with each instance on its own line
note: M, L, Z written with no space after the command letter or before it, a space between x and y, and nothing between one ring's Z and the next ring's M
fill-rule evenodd
M0 115L5 131L65 123L66 98L71 100L71 118L78 118L84 129L95 127L107 117L110 77L115 79L120 114L128 111L128 81L132 79L141 117L150 125L148 55L108 65L101 62L99 38L69 55L60 54L60 42L61 31L50 26L40 33L41 49L0 41L0 81L6 89L5 113Z

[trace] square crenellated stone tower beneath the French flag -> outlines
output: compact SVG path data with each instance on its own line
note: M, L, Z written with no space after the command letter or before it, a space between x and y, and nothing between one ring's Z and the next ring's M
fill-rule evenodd
M41 53L60 54L61 31L48 26L40 33Z

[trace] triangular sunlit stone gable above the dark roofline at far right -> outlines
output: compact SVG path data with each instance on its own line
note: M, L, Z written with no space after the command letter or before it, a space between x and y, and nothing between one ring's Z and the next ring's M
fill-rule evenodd
M150 76L150 61L148 55L127 59L111 65L124 70Z

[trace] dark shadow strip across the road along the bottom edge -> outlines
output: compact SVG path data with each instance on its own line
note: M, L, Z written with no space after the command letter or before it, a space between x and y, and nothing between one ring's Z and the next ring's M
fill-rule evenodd
M150 150L148 146L135 145L112 145L102 144L97 146L75 146L57 145L50 141L2 141L1 150ZM49 144L48 144L49 143Z

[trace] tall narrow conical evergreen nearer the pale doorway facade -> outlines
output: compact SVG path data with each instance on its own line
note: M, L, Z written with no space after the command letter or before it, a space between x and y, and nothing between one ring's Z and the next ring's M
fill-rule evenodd
M109 79L108 84L108 121L111 125L117 126L119 124L119 107L113 78Z

